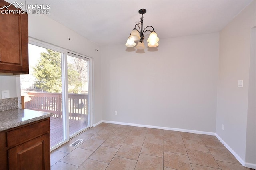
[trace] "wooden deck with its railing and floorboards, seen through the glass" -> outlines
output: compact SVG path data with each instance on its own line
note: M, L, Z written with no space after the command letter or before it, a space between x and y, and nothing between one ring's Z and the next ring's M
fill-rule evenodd
M50 117L50 146L62 142L63 115L62 93L23 92L24 107L36 111L54 113ZM68 94L69 134L72 135L88 125L88 94Z

